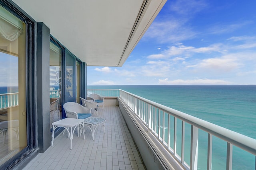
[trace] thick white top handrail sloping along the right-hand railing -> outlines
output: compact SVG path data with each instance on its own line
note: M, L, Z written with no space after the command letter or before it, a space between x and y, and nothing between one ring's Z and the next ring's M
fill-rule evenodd
M164 106L162 104L158 104L156 102L142 98L135 94L126 92L124 90L121 90L121 89L119 89L119 90L122 92L125 92L135 98L138 98L139 100L142 100L142 101L150 104L151 106L160 108L162 111L164 111L166 113L170 113L174 117L177 117L191 125L194 125L195 127L198 127L199 129L202 129L203 131L206 131L207 133L210 133L228 143L231 143L232 145L235 145L243 150L246 150L247 152L250 152L251 154L256 155L256 139L253 139L248 136L242 135L240 133L231 131L229 129L215 125L208 121L204 121L202 119L188 115L186 113L172 109L172 108Z

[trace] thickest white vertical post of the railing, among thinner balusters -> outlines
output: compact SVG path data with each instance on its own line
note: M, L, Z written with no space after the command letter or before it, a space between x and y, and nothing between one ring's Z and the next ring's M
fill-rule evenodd
M190 170L197 170L198 127L191 125Z

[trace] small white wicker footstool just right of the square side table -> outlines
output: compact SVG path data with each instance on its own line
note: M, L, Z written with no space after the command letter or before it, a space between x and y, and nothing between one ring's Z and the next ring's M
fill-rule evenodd
M93 140L94 140L94 132L99 125L102 125L105 133L105 122L106 122L106 119L100 118L100 117L90 117L88 119L84 119L84 125L89 127L92 131Z

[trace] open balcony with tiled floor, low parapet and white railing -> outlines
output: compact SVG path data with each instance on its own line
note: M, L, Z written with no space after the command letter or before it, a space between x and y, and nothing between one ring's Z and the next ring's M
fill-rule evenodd
M100 117L106 118L106 134L98 129L92 141L87 129L86 141L74 137L72 150L61 134L54 147L38 154L25 169L143 169L145 165L147 169L231 170L239 169L233 159L242 160L244 155L250 158L241 166L256 168L255 139L123 90L88 90L87 96L91 93L106 96L105 109L99 109ZM202 138L204 143L199 142ZM214 147L216 140L224 143L223 150ZM202 153L203 144L206 151ZM216 152L224 152L224 158Z

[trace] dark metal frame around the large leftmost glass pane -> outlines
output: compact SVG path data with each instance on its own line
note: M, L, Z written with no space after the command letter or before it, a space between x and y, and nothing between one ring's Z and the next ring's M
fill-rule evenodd
M27 146L20 150L15 156L10 158L0 166L0 169L12 169L17 166L23 167L30 160L28 157L38 153L37 148L37 121L36 121L36 96L35 87L35 57L36 56L36 21L27 15L14 2L8 0L0 1L0 5L22 20L26 24L26 125L27 125Z

